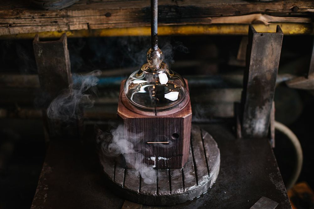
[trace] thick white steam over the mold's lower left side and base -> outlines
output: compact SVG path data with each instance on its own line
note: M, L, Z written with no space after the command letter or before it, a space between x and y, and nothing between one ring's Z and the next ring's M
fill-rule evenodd
M100 144L100 152L104 156L118 157L119 155L123 155L126 163L141 174L146 184L156 182L156 171L153 169L153 166L143 163L143 154L136 152L133 148L132 142L141 138L141 133L132 139L128 139L123 125L119 125L116 129L112 129L107 133L98 128L96 131L96 142Z

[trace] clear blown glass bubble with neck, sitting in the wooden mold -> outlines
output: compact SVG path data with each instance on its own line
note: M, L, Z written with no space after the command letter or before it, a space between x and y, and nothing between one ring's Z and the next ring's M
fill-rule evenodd
M127 99L146 109L165 109L182 101L186 85L183 78L162 62L160 49L147 52L147 63L133 72L125 83Z

